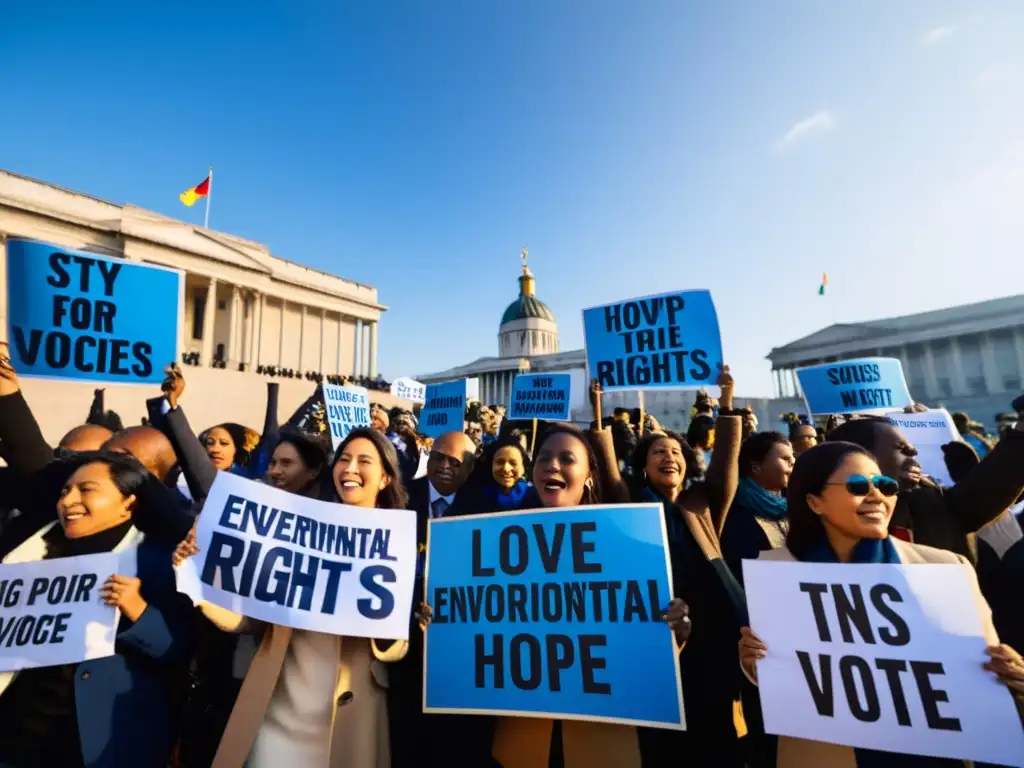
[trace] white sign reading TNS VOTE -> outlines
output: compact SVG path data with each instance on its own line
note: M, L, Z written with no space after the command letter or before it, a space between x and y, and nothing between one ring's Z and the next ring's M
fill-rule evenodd
M982 670L968 565L743 560L765 730L1024 765L1012 696Z

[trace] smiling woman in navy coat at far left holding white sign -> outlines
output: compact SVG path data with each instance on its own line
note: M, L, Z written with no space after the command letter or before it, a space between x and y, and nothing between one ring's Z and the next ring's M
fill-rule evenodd
M130 457L81 454L69 470L57 522L4 563L134 550L137 569L112 574L98 590L121 609L113 656L0 674L0 764L163 768L177 740L195 620L175 586L174 542L143 531L168 527L167 515L188 518Z

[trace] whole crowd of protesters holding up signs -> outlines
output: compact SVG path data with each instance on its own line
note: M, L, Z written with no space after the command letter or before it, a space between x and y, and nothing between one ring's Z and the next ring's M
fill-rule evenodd
M177 366L166 375L142 426L125 426L97 391L85 423L51 446L0 358L2 562L129 548L138 556L135 574L113 573L102 588L121 610L114 656L0 675L0 768L959 764L765 733L757 683L767 649L749 627L741 567L757 558L963 565L983 595L985 668L1024 717L1016 413L1002 415L996 436L957 415L963 441L944 447L955 484L940 487L883 418L818 428L794 417L786 434L759 432L753 413L733 407L728 369L718 400L698 396L686 435L641 411L602 413L594 387L590 429L511 422L502 407L473 403L464 430L430 440L412 411L375 406L370 426L337 450L319 387L280 424L270 382L260 433L223 423L197 434L187 400L210 393L189 392ZM432 613L422 579L408 641L194 604L174 568L197 554L196 518L218 472L322 501L415 510L421 558L438 517L658 505L672 573L662 618L681 648L687 729L424 714Z

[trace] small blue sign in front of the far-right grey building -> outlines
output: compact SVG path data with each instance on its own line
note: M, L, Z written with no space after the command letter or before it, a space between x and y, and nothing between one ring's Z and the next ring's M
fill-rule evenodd
M855 414L906 408L913 402L903 366L895 357L861 357L797 369L812 414Z

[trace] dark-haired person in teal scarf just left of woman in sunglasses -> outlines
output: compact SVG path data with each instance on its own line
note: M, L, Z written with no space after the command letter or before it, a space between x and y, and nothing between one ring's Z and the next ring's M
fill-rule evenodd
M793 462L793 446L781 432L756 432L739 449L739 485L722 530L722 553L740 584L743 560L785 542Z

